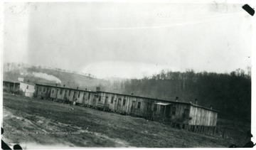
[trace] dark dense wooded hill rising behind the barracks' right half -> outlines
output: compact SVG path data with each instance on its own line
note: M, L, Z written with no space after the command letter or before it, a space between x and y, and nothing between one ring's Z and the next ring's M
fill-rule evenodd
M231 73L195 73L161 71L161 73L113 82L110 91L183 102L198 101L198 105L219 111L218 117L250 121L251 72L237 69Z

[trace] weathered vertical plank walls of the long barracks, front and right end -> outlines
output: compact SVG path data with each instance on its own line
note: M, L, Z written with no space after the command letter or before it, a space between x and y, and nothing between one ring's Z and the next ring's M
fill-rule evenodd
M133 95L119 95L110 92L91 92L91 91L82 91L75 89L68 89L65 87L50 87L44 85L36 85L36 88L41 88L41 90L36 90L36 95L43 97L57 98L59 100L69 100L70 102L78 102L83 105L89 105L92 107L97 107L98 102L102 104L109 105L109 109L112 111L117 111L117 103L119 99L121 100L119 112L126 112L127 114L132 113L132 102L134 101L134 109L137 109L138 103L141 102L140 109L137 109L137 113L142 117L149 113L160 114L161 112L154 112L154 105L157 102L164 102L163 100L149 99L145 97L137 97ZM43 88L46 88L43 91ZM58 90L58 93L57 93ZM60 95L60 90L62 94ZM78 95L80 96L78 97ZM90 95L90 97L89 97ZM101 100L99 101L99 97ZM108 97L108 98L107 98ZM111 102L113 97L113 102ZM106 99L107 98L107 99ZM124 99L126 100L125 105L123 105ZM196 107L191 104L180 103L180 102L170 102L171 109L169 116L171 119L183 119L184 109L189 109L189 125L199 125L199 126L208 126L215 127L217 123L218 113L209 109L202 107ZM157 107L160 107L159 105ZM174 107L176 108L175 114L172 114ZM157 109L159 110L159 108Z

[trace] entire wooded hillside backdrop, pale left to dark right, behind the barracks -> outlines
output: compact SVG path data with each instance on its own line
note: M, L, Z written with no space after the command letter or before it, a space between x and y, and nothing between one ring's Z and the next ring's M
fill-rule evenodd
M232 73L195 73L193 70L165 72L150 77L129 80L103 80L92 75L80 75L60 69L50 69L23 64L4 65L4 80L24 80L55 84L33 73L46 73L61 80L60 86L79 87L95 91L97 86L108 92L134 94L164 100L195 102L205 107L213 106L220 112L218 117L250 121L251 113L251 75L250 68L235 70Z

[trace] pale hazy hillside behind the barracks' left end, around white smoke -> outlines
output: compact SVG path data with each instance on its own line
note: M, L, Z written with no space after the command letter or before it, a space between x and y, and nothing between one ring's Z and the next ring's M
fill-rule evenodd
M4 64L4 80L18 81L18 77L23 77L24 81L46 83L55 85L56 81L47 80L46 77L38 77L35 74L41 73L45 76L55 77L60 80L59 86L73 87L85 90L96 90L97 86L104 87L110 85L110 81L98 79L90 74L77 73L74 71L60 70L59 68L46 68L42 66L25 65L23 63L6 63ZM42 75L43 76L43 75Z

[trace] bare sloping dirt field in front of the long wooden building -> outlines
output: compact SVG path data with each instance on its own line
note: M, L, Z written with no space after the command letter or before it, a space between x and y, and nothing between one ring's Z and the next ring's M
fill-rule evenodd
M86 147L228 147L230 141L160 122L4 94L6 144Z

